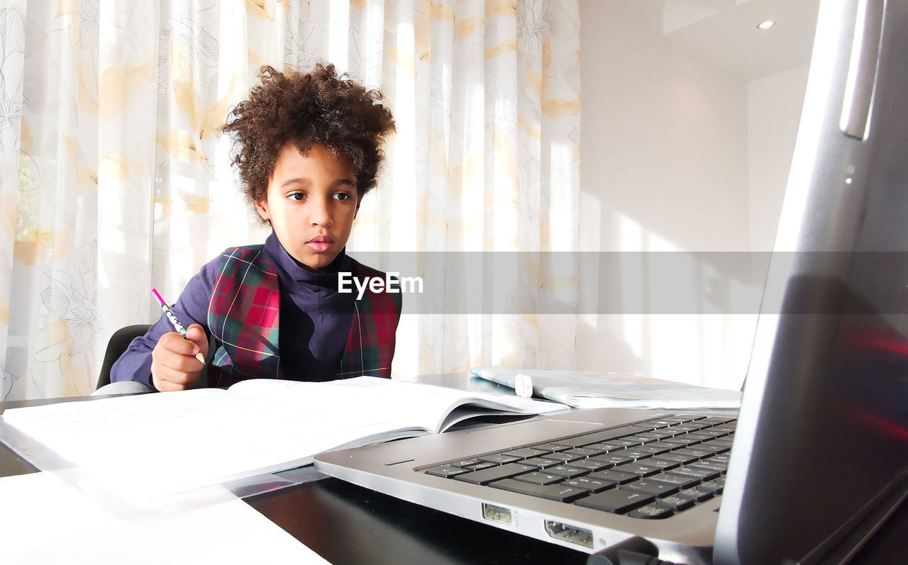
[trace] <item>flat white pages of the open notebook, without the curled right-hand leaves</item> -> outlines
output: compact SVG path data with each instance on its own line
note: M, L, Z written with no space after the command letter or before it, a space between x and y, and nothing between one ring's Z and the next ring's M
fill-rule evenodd
M133 501L311 463L315 453L419 423L361 396L218 389L17 408L4 419Z

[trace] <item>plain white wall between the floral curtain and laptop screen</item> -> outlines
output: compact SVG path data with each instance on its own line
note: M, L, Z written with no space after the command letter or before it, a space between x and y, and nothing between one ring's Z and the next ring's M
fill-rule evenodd
M661 2L634 1L580 3L582 250L771 248L805 69L748 85L666 40ZM588 265L581 273L608 276ZM623 289L637 296L626 313L581 313L577 368L738 388L763 273L703 263L676 277L679 288L707 280L752 307L709 314L723 310L697 295L701 314L665 314L647 309L646 289L642 301L639 288Z

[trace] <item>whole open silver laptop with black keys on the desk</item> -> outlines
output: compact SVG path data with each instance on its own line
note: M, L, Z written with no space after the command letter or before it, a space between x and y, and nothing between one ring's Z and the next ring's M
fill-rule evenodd
M908 494L904 54L908 2L821 3L736 417L575 410L315 466L590 554L847 560Z

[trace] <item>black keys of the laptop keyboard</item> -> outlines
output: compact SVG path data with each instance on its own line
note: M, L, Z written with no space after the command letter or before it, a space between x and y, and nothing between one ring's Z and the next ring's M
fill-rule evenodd
M735 418L679 414L423 472L654 520L722 493L734 437Z

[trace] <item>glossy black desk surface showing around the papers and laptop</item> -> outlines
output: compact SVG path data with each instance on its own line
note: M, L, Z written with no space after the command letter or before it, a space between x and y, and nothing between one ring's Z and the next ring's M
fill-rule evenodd
M466 375L432 375L437 385L489 390ZM494 385L492 385L494 386ZM95 397L97 398L97 397ZM77 400L16 401L7 408ZM35 468L0 443L0 476ZM348 563L586 563L587 554L327 478L244 499L335 565ZM893 563L908 556L908 504L853 560ZM893 560L895 559L895 560Z

